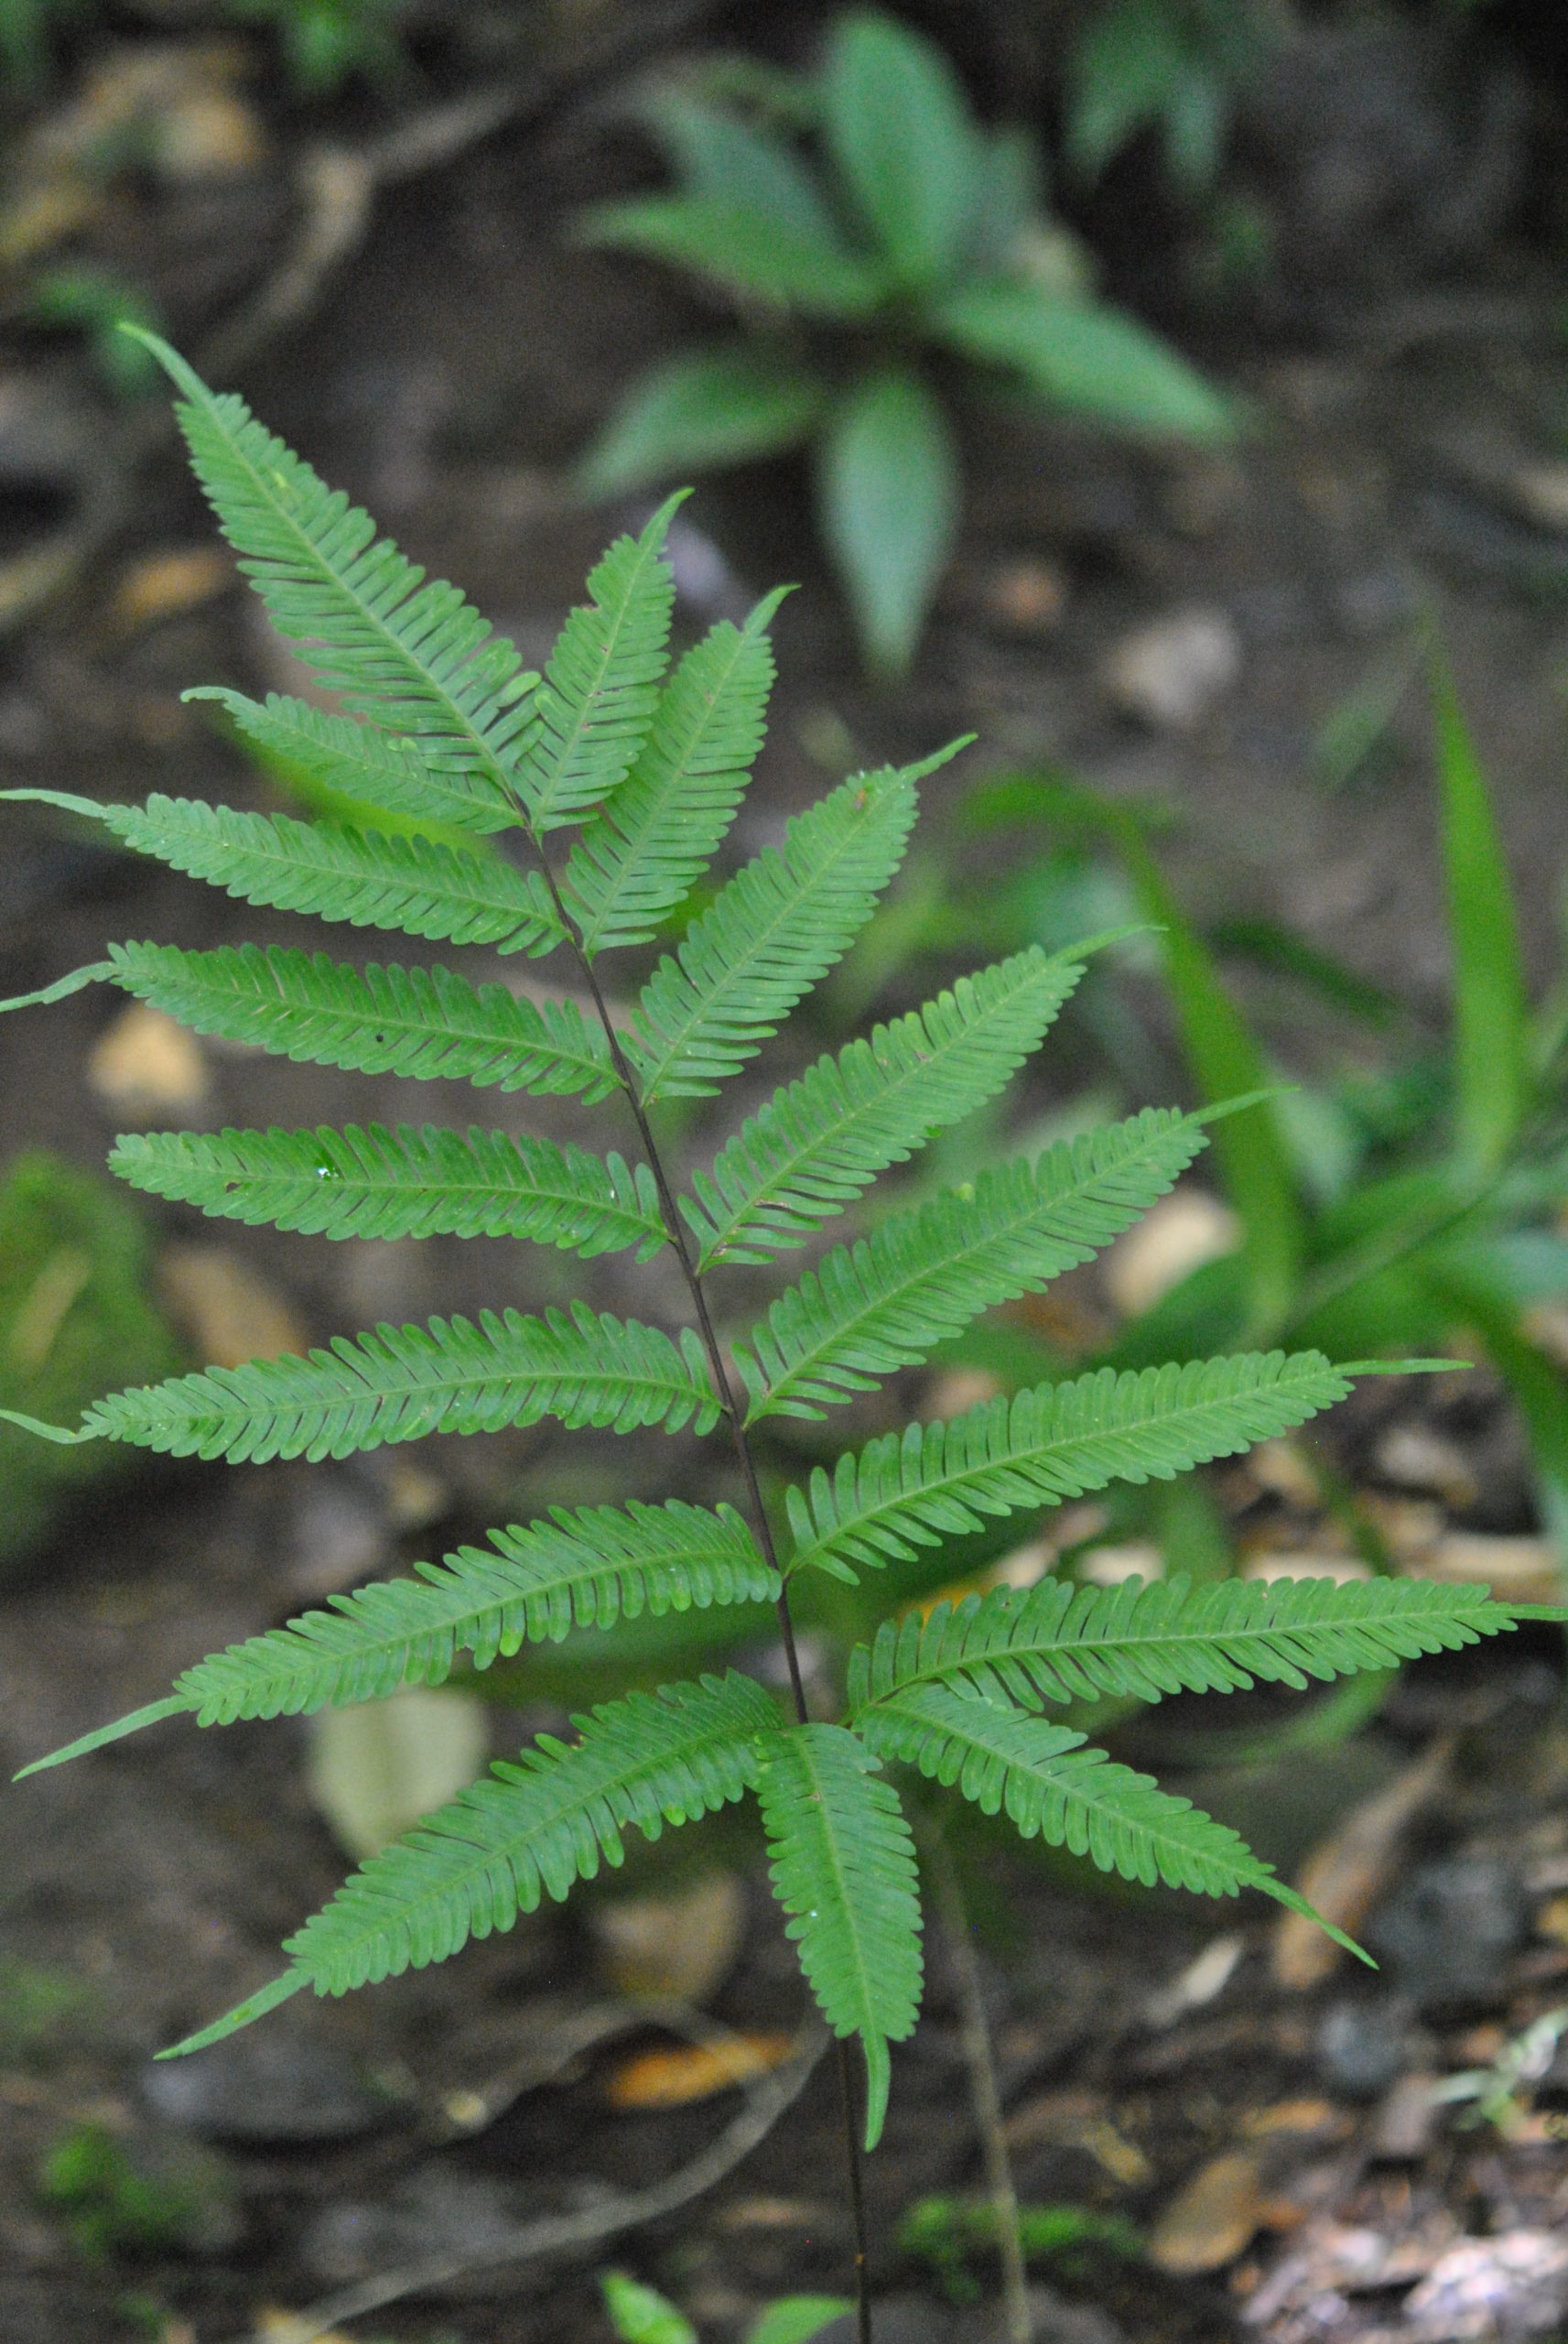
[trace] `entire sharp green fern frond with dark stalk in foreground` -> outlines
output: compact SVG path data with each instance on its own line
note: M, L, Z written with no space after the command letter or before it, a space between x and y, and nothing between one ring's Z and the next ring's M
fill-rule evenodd
M54 1442L267 1460L352 1456L544 1416L570 1430L698 1435L727 1418L745 1512L682 1498L555 1507L492 1531L488 1547L333 1596L323 1610L209 1655L164 1699L35 1765L180 1713L225 1725L382 1699L405 1683L441 1683L464 1655L485 1669L525 1643L612 1631L642 1610L759 1599L778 1606L792 1690L785 1716L762 1683L727 1669L605 1702L574 1720L572 1742L539 1735L516 1763L495 1765L363 1863L288 1938L288 1967L270 1985L173 2051L218 2042L305 1985L342 1995L445 1960L469 1936L509 1929L546 1894L567 1896L600 1861L621 1863L628 1826L659 1838L752 1793L806 1983L844 2060L848 2039L860 2039L872 2149L888 2103L888 2046L914 2030L921 1995L919 1880L898 1767L919 1767L987 1812L1005 1810L1024 1838L1066 1845L1127 1880L1202 1894L1249 1887L1303 1910L1233 1831L1052 1725L1048 1706L1256 1681L1301 1688L1545 1613L1493 1603L1484 1587L1390 1580L1172 1580L1113 1592L1045 1580L1029 1594L1001 1587L938 1606L923 1622L884 1622L851 1655L841 1716L827 1723L806 1706L790 1622L797 1573L853 1582L963 1538L987 1517L1036 1512L1113 1479L1167 1479L1301 1425L1341 1399L1352 1376L1385 1369L1266 1352L1038 1385L846 1449L832 1472L788 1491L790 1545L780 1549L752 1427L776 1413L823 1418L926 1360L977 1313L1088 1261L1205 1144L1205 1118L1146 1109L895 1210L778 1294L734 1348L738 1385L731 1378L708 1280L813 1240L881 1172L994 1097L1083 973L1083 949L1055 959L1027 949L959 980L820 1057L705 1172L691 1172L687 1191L675 1188L656 1144L659 1102L717 1092L851 947L898 870L919 778L952 750L860 774L797 816L778 849L715 893L616 1024L598 959L652 942L722 846L762 745L778 595L741 628L715 626L670 668L666 504L593 570L591 602L567 619L546 673L523 673L518 652L452 586L427 581L377 539L368 516L328 492L239 398L213 396L171 349L145 340L183 394L197 473L241 567L345 713L216 696L244 734L284 748L363 806L366 823L298 823L169 797L136 809L12 795L91 816L127 846L248 902L497 954L567 945L591 1015L572 999L537 1006L450 968L356 968L253 945L113 945L108 959L26 999L59 1001L103 980L202 1034L314 1064L584 1106L621 1092L642 1160L480 1127L347 1125L134 1134L117 1142L115 1172L220 1219L335 1240L488 1233L638 1261L673 1247L694 1324L670 1334L586 1303L541 1317L483 1310L478 1324L375 1327L305 1360L253 1360L115 1392L75 1430L12 1420ZM413 818L417 832L387 837L380 813ZM506 830L534 851L527 877L488 846ZM574 837L558 865L546 849L560 830ZM844 2091L848 2112L848 2065ZM853 2128L848 2152L860 2335L870 2337Z

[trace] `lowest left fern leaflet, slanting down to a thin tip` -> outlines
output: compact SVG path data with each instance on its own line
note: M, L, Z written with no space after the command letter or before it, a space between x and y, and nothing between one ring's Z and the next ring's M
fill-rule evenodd
M541 1896L560 1903L600 1859L623 1861L628 1824L656 1840L666 1824L696 1824L741 1798L776 1718L762 1685L731 1671L605 1702L574 1720L577 1742L539 1735L518 1765L497 1763L345 1880L284 1946L293 1969L277 1999L300 1985L347 1995L445 1962L471 1936L511 1929ZM241 2002L176 2049L220 2042L253 2016Z

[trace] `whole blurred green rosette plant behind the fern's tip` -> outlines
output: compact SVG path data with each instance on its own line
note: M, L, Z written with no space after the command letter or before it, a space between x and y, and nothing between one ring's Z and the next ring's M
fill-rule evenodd
M813 75L717 68L640 115L677 195L600 204L584 244L689 270L741 335L647 373L581 464L586 495L811 448L823 541L865 659L909 668L961 509L949 389L1010 384L1116 431L1212 441L1233 410L1095 298L1029 134L984 129L942 52L877 9Z

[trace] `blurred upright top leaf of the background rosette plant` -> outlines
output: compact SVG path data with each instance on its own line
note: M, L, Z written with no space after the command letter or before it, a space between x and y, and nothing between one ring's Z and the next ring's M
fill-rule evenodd
M879 9L827 38L823 131L860 225L900 284L954 277L982 199L968 96L935 42Z

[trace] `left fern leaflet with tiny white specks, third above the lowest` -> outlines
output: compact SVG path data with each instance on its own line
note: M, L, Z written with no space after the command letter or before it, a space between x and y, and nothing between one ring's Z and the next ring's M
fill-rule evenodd
M131 1132L110 1172L218 1221L312 1238L527 1238L649 1261L668 1245L647 1165L506 1132L373 1123L342 1132Z

